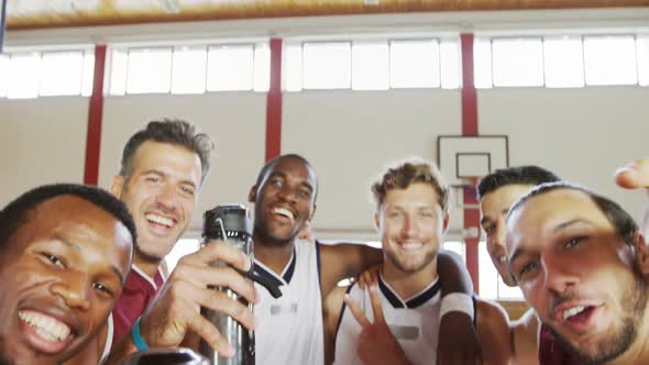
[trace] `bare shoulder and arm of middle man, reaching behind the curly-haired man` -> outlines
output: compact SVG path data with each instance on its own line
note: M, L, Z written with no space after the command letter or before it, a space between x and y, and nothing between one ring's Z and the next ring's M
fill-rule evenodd
M327 298L340 280L355 277L365 268L382 262L383 252L365 244L320 244L322 298Z

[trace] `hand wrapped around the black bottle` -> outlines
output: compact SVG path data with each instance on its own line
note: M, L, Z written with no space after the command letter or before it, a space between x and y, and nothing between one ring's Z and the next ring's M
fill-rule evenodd
M251 266L243 252L222 241L215 241L200 251L183 257L142 316L141 332L148 346L177 346L188 330L191 330L221 355L233 355L234 350L216 327L200 316L200 307L222 312L245 328L254 329L254 317L245 306L228 298L221 291L208 288L229 287L250 302L256 302L253 284L231 267L210 266L216 261L241 270L249 270Z

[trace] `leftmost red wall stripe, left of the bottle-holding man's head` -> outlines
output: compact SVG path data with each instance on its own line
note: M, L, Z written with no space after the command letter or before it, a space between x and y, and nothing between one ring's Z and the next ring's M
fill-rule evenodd
M95 76L92 96L88 108L88 131L86 134L86 164L84 184L97 185L99 180L99 152L101 148L101 120L103 118L103 71L106 69L106 45L95 46Z

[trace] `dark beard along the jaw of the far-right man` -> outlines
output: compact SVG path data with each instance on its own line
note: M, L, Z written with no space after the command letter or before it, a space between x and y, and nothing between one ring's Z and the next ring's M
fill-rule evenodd
M645 317L648 297L648 285L636 265L634 265L632 283L625 287L626 289L623 292L620 301L623 303L624 317L619 319L617 328L609 331L610 334L608 339L598 344L595 352L584 352L562 336L552 327L548 325L550 332L562 347L579 357L582 361L582 364L605 364L624 354L636 341L638 336L638 327L642 323Z

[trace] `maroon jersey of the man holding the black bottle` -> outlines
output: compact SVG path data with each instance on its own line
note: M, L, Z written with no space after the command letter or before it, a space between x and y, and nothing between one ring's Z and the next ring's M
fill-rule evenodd
M124 283L122 295L112 309L113 346L124 334L131 331L138 318L142 316L146 306L155 298L163 284L164 278L160 270L151 278L135 265L132 266L127 283Z

